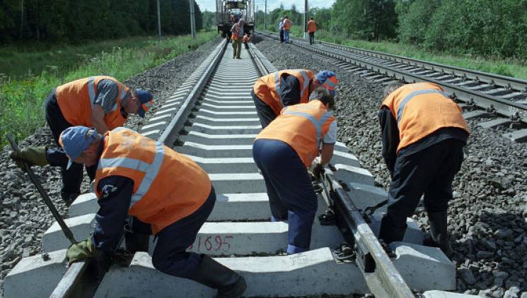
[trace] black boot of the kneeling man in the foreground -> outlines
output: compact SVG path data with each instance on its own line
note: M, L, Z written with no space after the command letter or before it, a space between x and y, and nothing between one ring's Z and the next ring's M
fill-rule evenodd
M245 292L245 280L238 273L214 261L207 255L202 255L202 263L190 277L207 287L218 290L216 298L238 298Z

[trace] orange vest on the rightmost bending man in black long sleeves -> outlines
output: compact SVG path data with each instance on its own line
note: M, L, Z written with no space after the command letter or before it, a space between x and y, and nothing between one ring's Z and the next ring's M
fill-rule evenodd
M434 83L404 85L390 93L382 106L388 107L397 121L397 152L443 127L458 127L470 133L461 107Z

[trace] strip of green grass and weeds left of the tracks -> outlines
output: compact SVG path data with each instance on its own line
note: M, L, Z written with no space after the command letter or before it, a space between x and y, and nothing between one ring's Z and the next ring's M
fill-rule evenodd
M97 75L113 76L124 81L141 71L192 51L216 36L216 32L208 31L198 33L196 40L192 40L190 35L165 37L161 45L155 37L132 37L80 47L68 46L64 50L47 49L44 52L17 52L13 47L0 49L0 56L1 53L10 52L8 59L3 61L9 60L13 65L20 64L25 67L30 65L25 61L27 59L36 59L39 56L36 60L42 59L38 66L29 68L32 71L23 76L0 73L0 145L6 145L7 132L22 139L44 124L42 104L57 85ZM85 54L82 59L76 59L74 53L91 55ZM46 57L49 59L45 59ZM59 68L54 64L62 66Z

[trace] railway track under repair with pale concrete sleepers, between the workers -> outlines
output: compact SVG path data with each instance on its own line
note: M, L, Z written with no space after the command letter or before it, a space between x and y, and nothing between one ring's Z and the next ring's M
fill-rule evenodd
M422 233L408 220L404 242L391 244L388 257L377 241L381 211L362 210L383 201L386 192L342 143L320 179L318 215L328 208L336 225L315 219L311 251L286 255L287 224L270 222L265 184L252 158L260 131L250 90L262 74L275 71L251 44L242 59L231 59L222 42L143 126L141 133L173 146L208 173L217 201L189 248L209 254L240 272L248 297L299 297L373 293L414 297L412 290L456 290L453 264L439 249L422 246ZM69 210L76 239L90 234L98 210L86 193ZM349 246L342 248L342 242ZM43 254L23 258L4 281L9 297L212 297L214 291L155 270L149 253L134 255L127 267L112 266L102 281L89 278L88 263L64 266L69 246L55 223L42 237ZM150 245L150 253L155 242ZM340 251L333 251L340 247ZM349 249L347 249L349 247ZM30 280L30 285L28 285ZM410 290L412 289L412 290ZM426 296L425 297L434 297Z

